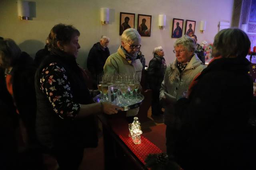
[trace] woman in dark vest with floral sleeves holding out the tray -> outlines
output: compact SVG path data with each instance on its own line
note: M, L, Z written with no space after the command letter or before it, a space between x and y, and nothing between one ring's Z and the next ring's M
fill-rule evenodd
M36 71L36 132L60 169L77 170L85 147L97 147L95 115L121 109L108 102L91 104L84 70L76 63L80 32L58 24L50 31L50 55Z

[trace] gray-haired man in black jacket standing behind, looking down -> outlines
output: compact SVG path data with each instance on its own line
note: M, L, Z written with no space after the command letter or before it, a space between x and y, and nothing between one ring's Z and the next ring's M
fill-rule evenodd
M106 62L106 59L110 55L108 49L109 38L102 35L100 42L93 45L90 49L88 59L87 59L87 68L92 74L93 78L93 89L97 88L97 75L103 72L103 66Z

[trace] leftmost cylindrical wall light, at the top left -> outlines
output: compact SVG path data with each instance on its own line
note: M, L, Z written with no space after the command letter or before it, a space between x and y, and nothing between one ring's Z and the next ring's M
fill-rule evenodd
M18 16L20 20L30 20L29 2L24 0L17 1Z

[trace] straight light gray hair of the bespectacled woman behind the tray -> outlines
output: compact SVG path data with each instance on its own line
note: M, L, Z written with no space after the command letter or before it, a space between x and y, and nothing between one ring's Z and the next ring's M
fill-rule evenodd
M122 33L121 41L124 41L124 42L131 42L131 41L133 41L133 42L140 43L141 37L140 37L140 34L138 33L138 31L136 29L129 28L129 29L126 29Z

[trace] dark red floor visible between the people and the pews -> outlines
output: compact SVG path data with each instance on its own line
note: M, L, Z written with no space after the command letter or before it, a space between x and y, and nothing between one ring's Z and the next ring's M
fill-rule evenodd
M157 145L163 152L166 152L166 146L163 145L166 129L166 126L163 123L163 115L152 117L150 108L148 110L148 118L147 121L141 123L144 137L150 138L152 143ZM99 123L99 125L101 129L101 124ZM158 133L157 139L154 138L156 133ZM160 137L159 134L161 134ZM48 170L56 170L58 168L57 162L49 155L45 156L45 162L48 165ZM98 147L84 150L84 157L80 165L80 170L104 170L104 146L101 131L99 132Z

